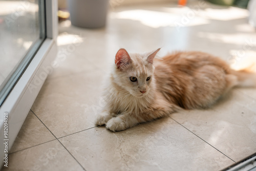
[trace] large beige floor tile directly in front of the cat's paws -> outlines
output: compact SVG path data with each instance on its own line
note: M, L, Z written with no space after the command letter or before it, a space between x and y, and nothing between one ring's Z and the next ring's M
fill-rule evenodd
M169 117L116 133L94 127L59 140L86 170L219 170L233 163Z

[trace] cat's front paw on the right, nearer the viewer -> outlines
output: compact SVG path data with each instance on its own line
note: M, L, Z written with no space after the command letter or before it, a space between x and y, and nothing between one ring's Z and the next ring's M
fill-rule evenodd
M126 127L124 121L121 118L115 117L115 118L110 119L106 123L106 129L109 129L113 132L116 132L116 131L126 130L127 127Z

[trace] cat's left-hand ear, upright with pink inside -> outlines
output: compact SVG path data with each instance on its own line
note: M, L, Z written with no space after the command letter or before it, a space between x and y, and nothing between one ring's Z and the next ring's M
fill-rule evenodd
M117 68L122 68L131 62L131 57L125 49L119 49L116 53L115 64Z

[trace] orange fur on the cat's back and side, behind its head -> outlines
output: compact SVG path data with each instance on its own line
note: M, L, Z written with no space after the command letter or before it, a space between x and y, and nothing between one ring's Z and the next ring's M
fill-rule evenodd
M203 52L177 52L155 62L157 89L184 109L205 108L238 82L222 59Z

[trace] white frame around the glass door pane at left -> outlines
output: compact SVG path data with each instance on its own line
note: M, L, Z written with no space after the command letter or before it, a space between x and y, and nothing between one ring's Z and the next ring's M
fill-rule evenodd
M34 58L30 62L22 77L19 78L15 87L0 108L0 137L4 137L4 113L8 113L8 152L22 127L42 84L51 72L52 61L57 55L56 39L58 34L56 0L45 1L46 12L46 39L42 42ZM0 158L4 163L5 144L0 143Z

